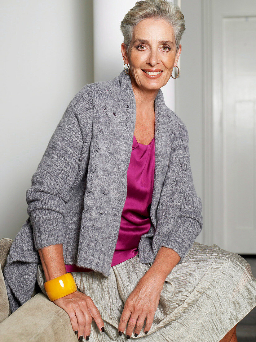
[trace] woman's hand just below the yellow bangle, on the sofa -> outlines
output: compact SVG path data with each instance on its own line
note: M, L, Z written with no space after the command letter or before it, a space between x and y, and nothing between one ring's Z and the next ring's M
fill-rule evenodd
M77 331L77 338L79 341L82 341L83 335L87 341L89 340L91 323L93 320L100 331L104 332L104 322L101 318L101 314L94 305L91 297L86 294L76 291L56 299L53 303L64 309L69 315L72 328L75 333Z

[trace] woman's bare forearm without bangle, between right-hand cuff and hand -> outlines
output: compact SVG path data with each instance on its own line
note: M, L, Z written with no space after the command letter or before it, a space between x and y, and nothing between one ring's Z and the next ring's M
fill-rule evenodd
M163 284L172 268L174 268L179 261L180 256L177 252L171 248L162 246L144 277L146 279L148 277L154 278L156 281L158 280Z

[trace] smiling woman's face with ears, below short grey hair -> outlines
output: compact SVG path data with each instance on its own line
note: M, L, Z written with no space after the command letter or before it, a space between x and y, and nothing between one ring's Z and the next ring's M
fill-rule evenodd
M135 26L129 53L127 54L124 43L121 51L124 62L129 63L133 86L153 91L163 87L171 77L181 53L181 44L176 55L172 26L164 19L149 18ZM161 73L151 76L145 71Z

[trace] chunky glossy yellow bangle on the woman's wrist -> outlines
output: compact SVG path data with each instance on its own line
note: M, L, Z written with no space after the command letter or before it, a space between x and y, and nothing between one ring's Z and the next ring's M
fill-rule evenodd
M77 291L76 282L70 272L46 281L44 288L51 302Z

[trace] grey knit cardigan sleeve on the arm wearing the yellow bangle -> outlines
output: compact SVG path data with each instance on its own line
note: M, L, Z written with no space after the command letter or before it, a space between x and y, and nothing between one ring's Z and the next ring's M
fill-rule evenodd
M83 146L73 99L52 134L26 192L36 250L63 244L66 202L72 195Z

